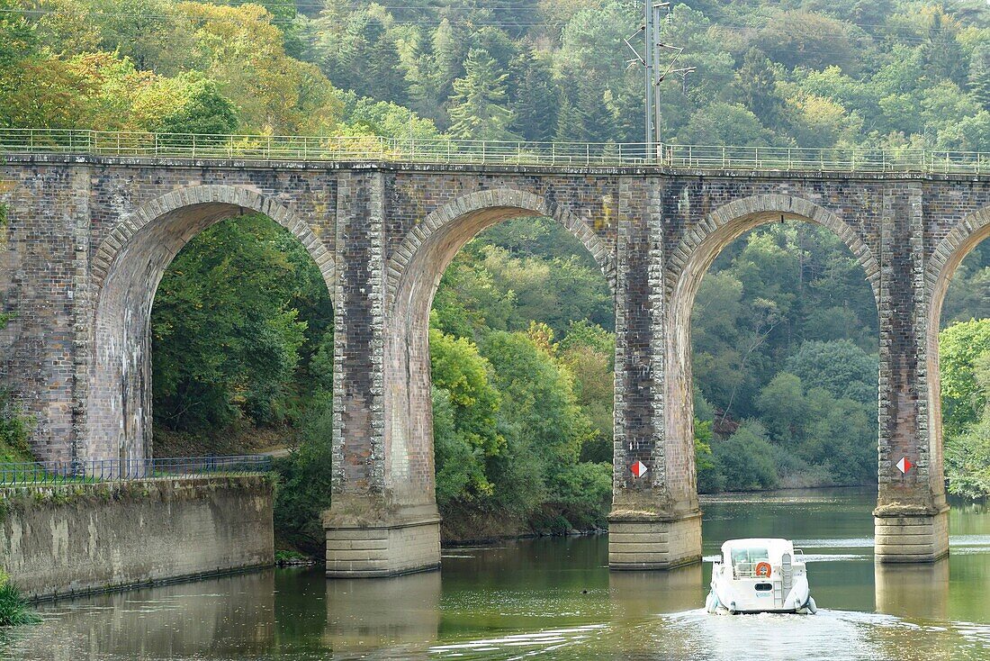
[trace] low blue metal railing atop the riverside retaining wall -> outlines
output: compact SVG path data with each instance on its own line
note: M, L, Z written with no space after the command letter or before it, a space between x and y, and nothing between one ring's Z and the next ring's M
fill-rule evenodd
M271 471L269 455L169 457L0 464L0 488L242 475Z

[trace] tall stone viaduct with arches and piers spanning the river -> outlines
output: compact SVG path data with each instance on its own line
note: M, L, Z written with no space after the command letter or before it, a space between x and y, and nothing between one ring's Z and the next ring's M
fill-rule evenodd
M428 317L450 259L486 227L544 215L594 256L616 305L615 569L701 555L690 311L719 252L780 219L823 225L880 320L882 561L947 553L938 328L955 268L990 235L990 177L8 156L0 164L2 379L44 460L151 453L148 319L198 232L257 211L290 230L335 304L328 574L440 563ZM895 464L916 465L902 476ZM634 478L642 461L648 472Z

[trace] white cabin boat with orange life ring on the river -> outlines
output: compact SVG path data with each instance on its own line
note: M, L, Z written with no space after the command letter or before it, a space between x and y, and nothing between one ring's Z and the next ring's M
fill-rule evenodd
M705 609L814 614L804 553L786 539L730 539L714 561Z

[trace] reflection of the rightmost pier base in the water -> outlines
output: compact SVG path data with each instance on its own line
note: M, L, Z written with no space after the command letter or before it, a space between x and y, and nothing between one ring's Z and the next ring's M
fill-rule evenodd
M876 609L912 618L948 618L948 558L935 563L873 567Z

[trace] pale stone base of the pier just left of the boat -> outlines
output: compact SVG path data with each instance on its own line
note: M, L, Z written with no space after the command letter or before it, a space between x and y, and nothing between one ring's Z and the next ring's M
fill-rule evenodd
M672 569L701 562L701 512L609 516L609 569Z

